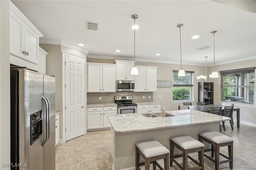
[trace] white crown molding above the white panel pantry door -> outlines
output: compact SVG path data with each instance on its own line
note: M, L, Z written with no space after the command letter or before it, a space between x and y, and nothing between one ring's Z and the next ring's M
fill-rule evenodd
M39 40L39 43L52 44L52 45L62 45L64 47L68 47L68 48L86 53L87 55L89 54L89 51L87 49L82 48L82 47L78 47L78 46L73 45L73 44L68 43L68 42L64 42L62 40Z

